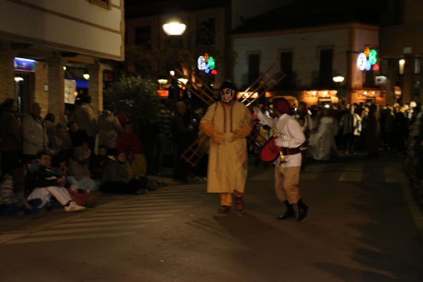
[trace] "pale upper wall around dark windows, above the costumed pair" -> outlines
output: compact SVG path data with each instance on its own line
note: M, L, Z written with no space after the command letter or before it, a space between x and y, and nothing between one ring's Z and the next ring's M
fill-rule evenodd
M326 31L297 31L269 36L233 38L233 48L237 54L234 67L234 80L237 85L245 84L243 77L248 72L248 54L260 53L260 71L276 63L278 66L281 50L294 52L293 71L296 72L298 87L309 87L319 68L319 50L333 48L333 70L346 74L347 51L349 48L348 28Z

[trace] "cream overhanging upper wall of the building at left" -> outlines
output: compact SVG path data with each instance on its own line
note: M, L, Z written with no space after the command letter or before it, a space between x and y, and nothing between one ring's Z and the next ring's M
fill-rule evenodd
M122 5L122 6L121 6ZM110 9L89 1L0 0L0 37L123 60L123 1Z

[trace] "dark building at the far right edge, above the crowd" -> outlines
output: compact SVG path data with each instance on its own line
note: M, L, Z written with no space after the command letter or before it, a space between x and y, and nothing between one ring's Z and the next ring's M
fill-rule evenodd
M387 61L388 102L422 102L423 2L388 0L380 21L380 54Z

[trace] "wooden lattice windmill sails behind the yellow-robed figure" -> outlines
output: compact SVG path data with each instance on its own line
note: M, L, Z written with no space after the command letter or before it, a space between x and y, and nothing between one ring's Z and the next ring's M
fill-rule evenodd
M178 74L182 75L184 78L189 79L188 76L183 75L183 72L178 70ZM283 78L285 77L282 70L276 65L272 65L269 67L266 71L260 75L255 82L252 82L252 85L250 87L247 87L247 89L241 93L241 97L239 99L242 104L245 104L245 107L250 108L252 105L262 97L264 94L266 94L267 91L271 90L272 87L277 85ZM191 93L195 94L197 97L199 97L205 104L213 104L215 102L215 97L213 96L213 90L208 87L208 85L205 85L201 80L198 79L198 77L195 77L196 83L200 83L200 85L203 85L203 87L196 88L193 87L190 84L184 85L188 88ZM179 82L181 83L181 82ZM189 146L185 152L182 153L181 157L187 162L190 163L191 166L196 166L200 159L203 157L205 153L207 153L208 150L208 141L209 137L205 134L200 134L196 141L194 141L191 146ZM247 142L249 143L250 147L252 148L258 148L261 146L266 139L264 139L263 136L259 134L257 130L253 130L252 134L247 137Z

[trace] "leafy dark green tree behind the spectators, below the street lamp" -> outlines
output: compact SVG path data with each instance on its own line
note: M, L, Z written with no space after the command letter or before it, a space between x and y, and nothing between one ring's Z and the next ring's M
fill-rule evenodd
M134 123L136 131L157 121L160 97L156 94L153 80L123 75L107 98L109 107L119 114L125 114Z

